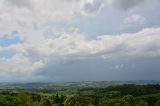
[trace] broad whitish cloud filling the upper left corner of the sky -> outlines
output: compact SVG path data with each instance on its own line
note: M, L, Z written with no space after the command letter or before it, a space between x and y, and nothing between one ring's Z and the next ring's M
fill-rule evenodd
M49 22L68 22L76 16L89 16L100 6L100 2L90 0L1 0L0 36L13 31L30 33L34 23L43 29Z

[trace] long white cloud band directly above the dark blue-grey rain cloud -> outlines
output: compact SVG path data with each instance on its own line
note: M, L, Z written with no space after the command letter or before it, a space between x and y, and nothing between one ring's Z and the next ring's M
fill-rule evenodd
M122 56L157 56L159 55L159 28L143 29L137 33L121 35L102 35L90 39L83 33L62 34L58 37L45 38L43 35L25 38L25 44L12 45L8 48L27 55L86 57L98 56L105 58ZM37 39L37 37L39 37ZM35 42L36 40L36 42ZM156 43L155 43L156 42ZM22 47L19 47L22 46ZM40 48L39 48L40 46ZM21 49L23 48L23 49ZM48 52L49 51L49 52Z

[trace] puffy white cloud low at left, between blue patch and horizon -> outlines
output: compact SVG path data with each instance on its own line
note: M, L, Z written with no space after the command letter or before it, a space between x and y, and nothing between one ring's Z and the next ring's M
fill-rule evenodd
M4 82L37 81L34 71L43 66L41 61L31 62L29 58L16 54L11 58L0 58L0 77Z

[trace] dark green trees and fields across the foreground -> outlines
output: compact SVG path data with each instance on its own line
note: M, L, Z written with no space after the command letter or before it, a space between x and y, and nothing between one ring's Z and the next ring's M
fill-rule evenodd
M1 89L0 106L160 106L160 85Z

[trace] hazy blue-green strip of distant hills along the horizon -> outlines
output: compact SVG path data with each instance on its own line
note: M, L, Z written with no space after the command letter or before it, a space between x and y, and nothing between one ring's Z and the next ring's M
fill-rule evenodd
M137 81L83 81L83 82L61 82L61 83L0 83L0 89L68 89L68 88L105 88L113 85L123 84L160 84L157 80Z

